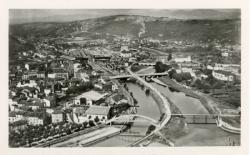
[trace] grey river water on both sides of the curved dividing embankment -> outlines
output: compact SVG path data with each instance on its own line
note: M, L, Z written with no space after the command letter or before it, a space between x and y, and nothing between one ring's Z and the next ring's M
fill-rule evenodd
M168 87L163 87L156 83L151 84L160 90L165 96L168 96L168 98L180 109L183 114L208 113L199 100L186 96L182 92L171 91ZM150 95L147 96L145 91L142 90L137 84L127 83L127 87L129 92L132 92L133 96L138 101L139 107L137 108L137 114L158 120L160 118L160 111L153 97ZM143 125L141 124L139 123L138 125L135 123L131 128L131 131L139 134L145 134L148 125L146 123ZM240 135L225 132L218 128L215 124L188 124L186 134L173 140L175 141L176 146L226 146L232 143L239 145ZM132 142L129 138L126 139L122 136L115 136L100 143L94 144L93 146L127 146L130 143Z

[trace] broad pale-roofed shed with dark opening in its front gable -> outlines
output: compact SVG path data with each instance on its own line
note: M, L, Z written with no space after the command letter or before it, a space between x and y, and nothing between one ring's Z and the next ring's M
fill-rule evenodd
M85 92L75 97L74 104L76 105L86 104L86 105L92 106L93 102L97 102L103 99L106 95L107 93L100 94L96 91L91 90L91 91Z

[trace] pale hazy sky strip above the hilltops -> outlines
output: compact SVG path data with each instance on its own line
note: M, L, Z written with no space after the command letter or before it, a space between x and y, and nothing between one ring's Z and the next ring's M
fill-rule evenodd
M10 9L9 22L67 22L120 14L177 19L240 18L239 9Z

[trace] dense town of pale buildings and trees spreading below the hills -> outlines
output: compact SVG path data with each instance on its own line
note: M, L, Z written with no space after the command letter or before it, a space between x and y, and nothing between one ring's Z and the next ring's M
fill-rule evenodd
M84 28L88 26L91 25ZM115 126L110 121L119 116L142 115L139 111L143 103L129 84L143 87L146 96L152 95L154 89L143 86L130 71L146 83L160 87L163 96L167 86L173 93L184 92L186 97L200 100L208 113L225 115L222 120L232 126L227 130L239 132L240 44L217 39L159 40L142 37L142 31L138 37L105 35L105 39L86 39L73 34L10 35L10 40L24 46L10 54L10 147L53 146ZM182 111L176 106L170 104L173 116L176 109ZM164 120L166 115L164 112L158 120ZM173 117L170 124L178 126L177 119L183 121ZM117 124L121 125L119 121ZM127 125L124 130L128 128ZM154 129L149 127L147 135L151 130ZM233 141L230 145L239 144Z

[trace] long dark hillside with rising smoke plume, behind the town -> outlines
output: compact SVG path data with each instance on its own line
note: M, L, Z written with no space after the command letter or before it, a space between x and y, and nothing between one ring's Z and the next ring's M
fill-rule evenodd
M180 20L170 18L115 15L65 23L28 23L10 25L14 36L93 36L91 34L130 35L159 40L240 42L240 20ZM86 33L88 32L88 33ZM100 38L101 39L101 38Z

